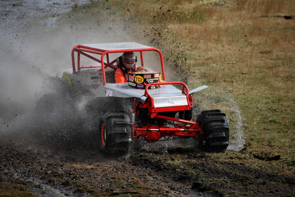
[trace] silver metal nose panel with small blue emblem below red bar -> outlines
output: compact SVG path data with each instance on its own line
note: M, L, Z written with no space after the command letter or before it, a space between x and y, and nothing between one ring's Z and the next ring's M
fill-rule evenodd
M156 108L188 105L186 96L158 97L153 100Z

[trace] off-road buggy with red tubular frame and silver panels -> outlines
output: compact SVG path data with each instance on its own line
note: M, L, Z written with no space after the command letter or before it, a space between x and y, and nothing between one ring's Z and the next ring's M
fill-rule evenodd
M148 60L150 54L156 54L161 71L131 73L128 83L116 84L117 57L124 52L139 54L142 67L146 66L144 54L149 54L145 56ZM82 57L86 58L83 63ZM193 138L206 151L227 149L229 126L224 113L206 110L191 121L192 95L207 86L189 91L182 82L166 82L158 49L134 42L77 45L72 50L72 64L73 70L64 71L63 79L71 94L81 99L90 92L81 118L85 132L92 133L103 153L127 153L135 138L148 142Z

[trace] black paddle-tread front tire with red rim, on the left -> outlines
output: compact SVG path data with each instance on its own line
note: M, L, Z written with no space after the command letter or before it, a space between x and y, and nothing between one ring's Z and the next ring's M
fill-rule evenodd
M97 132L99 148L105 156L129 154L132 124L125 112L106 112L100 119Z

